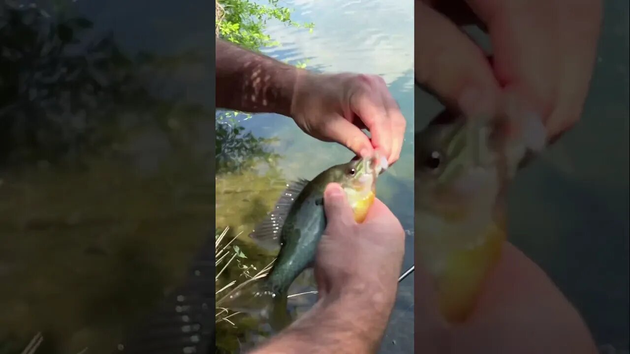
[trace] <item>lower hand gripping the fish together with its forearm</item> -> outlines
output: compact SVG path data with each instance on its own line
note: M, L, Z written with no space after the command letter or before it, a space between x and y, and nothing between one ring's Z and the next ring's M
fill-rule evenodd
M315 257L319 300L256 354L337 353L340 343L344 353L378 349L396 299L403 227L377 199L365 219L355 221L337 183L326 186L324 209L328 221Z

